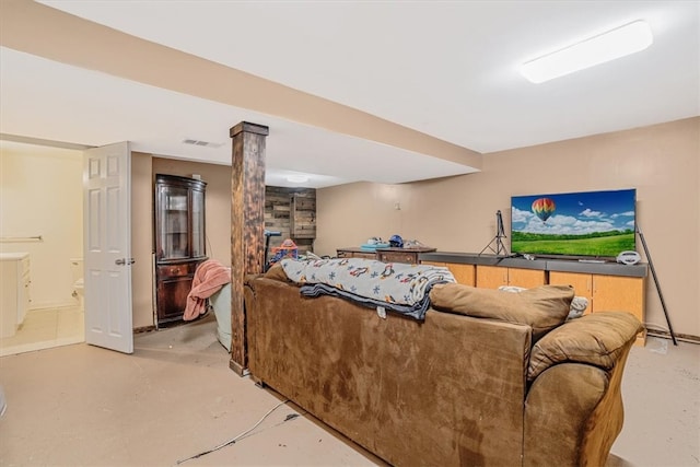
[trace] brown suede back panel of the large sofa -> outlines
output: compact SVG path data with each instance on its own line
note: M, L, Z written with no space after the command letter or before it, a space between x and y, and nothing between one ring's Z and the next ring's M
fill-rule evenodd
M245 288L253 376L393 465L520 465L528 325Z

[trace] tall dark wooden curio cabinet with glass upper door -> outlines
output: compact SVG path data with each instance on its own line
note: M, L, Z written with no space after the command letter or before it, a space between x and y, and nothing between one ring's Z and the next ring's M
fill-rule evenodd
M183 317L197 266L207 259L205 182L155 176L155 299L158 324Z

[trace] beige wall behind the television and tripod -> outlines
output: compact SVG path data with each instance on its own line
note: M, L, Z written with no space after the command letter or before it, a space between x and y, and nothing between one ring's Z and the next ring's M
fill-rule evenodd
M316 253L394 233L440 250L478 253L495 235L497 210L510 232L512 195L637 188L638 225L674 330L700 336L699 159L700 118L691 118L487 154L477 174L324 188L316 192ZM644 256L639 242L638 252ZM646 304L649 326L664 328L651 273Z

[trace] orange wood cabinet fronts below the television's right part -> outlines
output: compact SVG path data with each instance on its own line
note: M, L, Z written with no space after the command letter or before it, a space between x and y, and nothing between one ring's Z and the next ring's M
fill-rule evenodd
M588 299L586 313L625 311L645 322L646 278L550 271L549 283L572 285L576 295ZM635 343L643 346L645 341L646 331L642 331Z

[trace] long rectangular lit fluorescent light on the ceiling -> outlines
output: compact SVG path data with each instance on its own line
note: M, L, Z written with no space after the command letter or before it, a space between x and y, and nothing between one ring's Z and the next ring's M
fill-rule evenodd
M634 21L530 60L522 66L521 73L533 83L542 83L644 50L653 42L649 24Z

